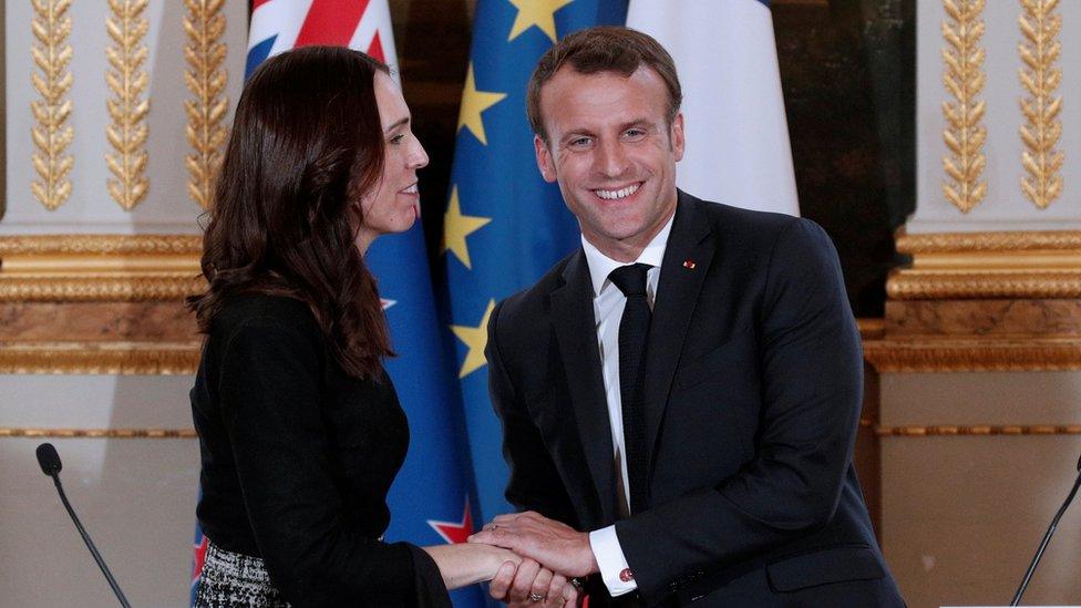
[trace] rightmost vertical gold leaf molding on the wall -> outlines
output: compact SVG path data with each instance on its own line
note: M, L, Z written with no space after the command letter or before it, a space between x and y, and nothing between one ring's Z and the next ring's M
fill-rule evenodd
M1018 72L1021 85L1029 92L1020 101L1027 121L1020 126L1026 147L1021 166L1028 174L1021 177L1021 193L1041 209L1062 194L1059 169L1064 155L1054 148L1062 135L1062 121L1058 118L1062 95L1054 95L1062 82L1062 71L1054 66L1062 52L1058 40L1062 17L1054 13L1058 3L1059 0L1021 0L1023 12L1018 18L1025 35L1018 44L1025 68Z

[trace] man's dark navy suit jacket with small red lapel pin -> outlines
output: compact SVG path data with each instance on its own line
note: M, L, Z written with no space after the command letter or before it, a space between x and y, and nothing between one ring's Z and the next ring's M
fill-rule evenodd
M487 359L507 498L615 523L644 604L903 605L852 467L859 333L816 224L679 193L646 360L650 508L630 518L581 250L493 311Z

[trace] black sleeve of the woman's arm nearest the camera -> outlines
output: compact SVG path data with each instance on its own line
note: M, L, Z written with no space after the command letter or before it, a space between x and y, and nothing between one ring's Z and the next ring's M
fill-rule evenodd
M267 569L294 606L450 606L434 561L366 537L343 516L320 414L320 346L275 319L241 326L218 392L244 506Z

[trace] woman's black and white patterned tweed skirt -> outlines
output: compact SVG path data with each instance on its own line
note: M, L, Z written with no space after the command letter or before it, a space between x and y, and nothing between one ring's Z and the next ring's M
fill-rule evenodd
M287 608L261 558L229 553L208 543L196 608Z

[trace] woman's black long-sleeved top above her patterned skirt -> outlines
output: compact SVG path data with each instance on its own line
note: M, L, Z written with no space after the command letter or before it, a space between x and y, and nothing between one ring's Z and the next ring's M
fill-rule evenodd
M287 601L449 605L426 553L379 540L409 446L390 378L347 375L306 303L228 302L213 320L192 412L203 532L261 557Z

